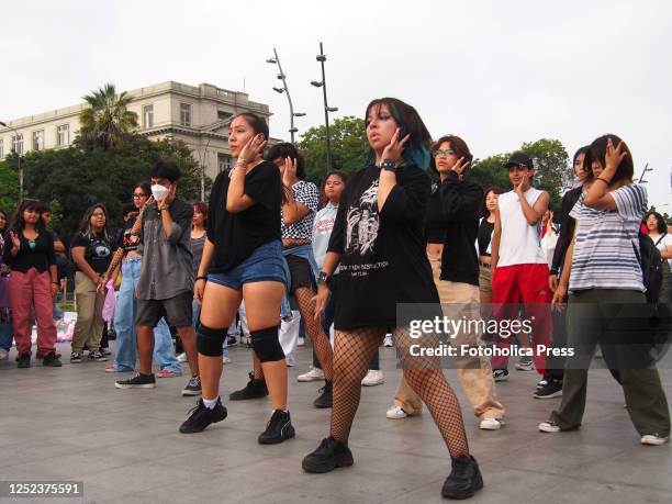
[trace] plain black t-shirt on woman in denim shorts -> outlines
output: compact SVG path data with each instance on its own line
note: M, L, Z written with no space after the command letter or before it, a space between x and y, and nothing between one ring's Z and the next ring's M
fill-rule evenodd
M234 168L240 169L240 168ZM208 208L208 239L214 244L210 272L235 268L264 244L280 239L280 170L261 161L245 176L244 192L255 203L237 213L226 210L229 171L217 175Z

